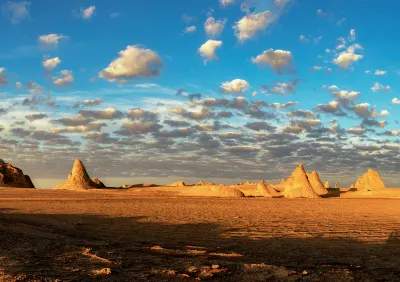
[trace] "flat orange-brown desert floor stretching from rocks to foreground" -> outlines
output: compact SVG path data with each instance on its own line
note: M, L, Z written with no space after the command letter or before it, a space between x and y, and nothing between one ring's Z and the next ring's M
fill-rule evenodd
M399 281L400 199L0 189L0 281Z

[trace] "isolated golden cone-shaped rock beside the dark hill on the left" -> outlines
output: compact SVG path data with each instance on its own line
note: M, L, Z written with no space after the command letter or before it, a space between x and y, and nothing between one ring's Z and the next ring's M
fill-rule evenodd
M97 179L98 180L98 179ZM98 180L101 183L100 180ZM72 173L68 175L68 180L54 187L57 190L87 190L104 188L104 184L98 184L90 179L83 163L76 159L72 167Z

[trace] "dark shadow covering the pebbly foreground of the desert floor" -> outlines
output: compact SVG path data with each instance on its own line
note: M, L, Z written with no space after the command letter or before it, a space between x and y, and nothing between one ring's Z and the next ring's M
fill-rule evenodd
M211 277L215 281L398 281L400 277L399 232L386 244L372 245L324 237L255 240L228 237L229 231L208 223L170 225L144 217L0 209L0 280L92 281L95 276L107 281L190 281L200 275L188 271L190 267L212 264L226 270ZM246 264L260 263L282 267L260 266L254 273L244 269Z

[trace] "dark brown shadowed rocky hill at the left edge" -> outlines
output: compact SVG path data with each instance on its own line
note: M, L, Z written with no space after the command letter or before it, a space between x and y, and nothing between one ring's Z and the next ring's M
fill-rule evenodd
M19 168L0 160L0 187L35 188L31 178Z

